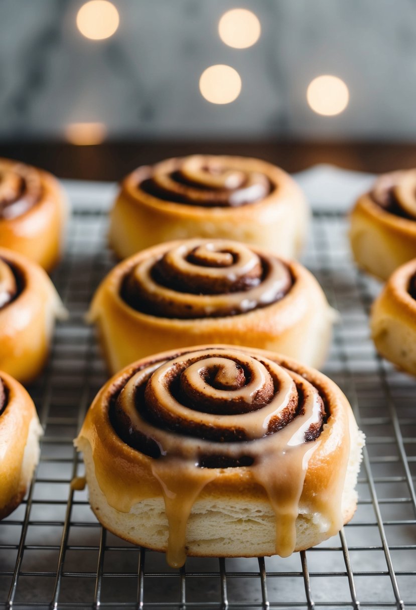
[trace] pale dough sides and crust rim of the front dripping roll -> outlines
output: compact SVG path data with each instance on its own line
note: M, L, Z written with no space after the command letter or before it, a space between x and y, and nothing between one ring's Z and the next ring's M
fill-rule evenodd
M193 350L206 348L198 346ZM234 346L219 348L235 350ZM307 464L295 522L295 550L309 548L334 535L354 514L357 503L354 487L364 436L345 396L325 375L271 352L238 350L254 357L267 357L295 371L325 397L330 415ZM93 401L75 440L76 447L84 452L91 508L99 521L123 539L160 551L167 550L168 522L162 487L152 471L154 459L120 439L110 423L109 403L144 362L159 358L163 362L186 352L159 354L129 365L115 375ZM251 468L215 470L218 476L203 488L193 504L186 529L186 553L228 557L276 553L276 517ZM326 519L325 503L331 504L334 497L342 498L337 507L340 515Z

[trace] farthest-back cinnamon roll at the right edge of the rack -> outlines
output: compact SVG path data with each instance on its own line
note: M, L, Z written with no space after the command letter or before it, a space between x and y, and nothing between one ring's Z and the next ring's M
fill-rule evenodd
M350 238L357 264L383 280L416 257L416 170L376 180L351 213Z

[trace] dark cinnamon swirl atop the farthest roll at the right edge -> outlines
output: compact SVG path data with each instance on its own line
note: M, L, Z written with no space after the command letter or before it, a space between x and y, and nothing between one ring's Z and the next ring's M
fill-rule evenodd
M416 220L416 170L383 174L376 181L371 196L387 212Z

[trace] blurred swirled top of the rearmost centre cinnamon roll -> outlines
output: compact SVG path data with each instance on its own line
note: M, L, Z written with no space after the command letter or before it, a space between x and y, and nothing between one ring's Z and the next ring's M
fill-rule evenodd
M285 171L250 157L193 155L143 166L122 183L123 192L150 207L199 217L207 208L228 215L238 207L285 198L298 189Z

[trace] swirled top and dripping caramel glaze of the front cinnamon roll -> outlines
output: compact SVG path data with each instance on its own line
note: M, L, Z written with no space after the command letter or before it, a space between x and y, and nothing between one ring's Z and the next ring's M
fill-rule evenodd
M227 493L268 498L275 550L287 556L296 548L299 503L325 517L326 537L343 524L349 409L318 371L262 350L201 346L136 362L110 379L76 444L90 443L99 487L118 511L162 494L171 565L185 561L195 500Z

